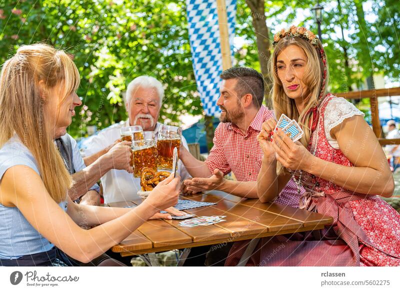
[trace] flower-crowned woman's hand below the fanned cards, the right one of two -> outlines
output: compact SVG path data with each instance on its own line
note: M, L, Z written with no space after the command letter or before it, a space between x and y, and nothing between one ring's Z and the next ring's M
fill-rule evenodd
M313 155L299 141L293 142L280 128L275 130L271 139L276 159L282 166L307 170Z

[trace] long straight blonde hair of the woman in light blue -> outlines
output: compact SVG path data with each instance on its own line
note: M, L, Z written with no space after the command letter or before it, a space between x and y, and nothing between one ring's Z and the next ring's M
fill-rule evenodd
M78 70L62 50L43 43L23 45L4 62L0 74L0 147L16 134L35 158L50 196L59 203L66 197L71 176L44 122L44 106L50 97L47 90L55 86L65 92L59 104L79 86Z

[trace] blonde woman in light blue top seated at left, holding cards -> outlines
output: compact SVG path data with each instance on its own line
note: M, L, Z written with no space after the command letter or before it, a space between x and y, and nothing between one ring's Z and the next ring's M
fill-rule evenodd
M159 183L135 208L78 205L53 143L68 126L79 74L62 50L21 46L0 75L0 265L65 264L64 253L88 262L177 202L179 177ZM78 226L97 225L85 230Z

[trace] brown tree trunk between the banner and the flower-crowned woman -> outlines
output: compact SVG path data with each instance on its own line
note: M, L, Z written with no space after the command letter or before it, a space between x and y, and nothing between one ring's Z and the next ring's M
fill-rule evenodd
M251 10L251 18L257 39L258 59L261 67L261 73L264 77L264 97L266 106L272 108L272 100L269 98L269 92L272 88L272 82L269 79L268 60L271 55L269 51L270 41L269 32L265 21L264 0L246 0Z

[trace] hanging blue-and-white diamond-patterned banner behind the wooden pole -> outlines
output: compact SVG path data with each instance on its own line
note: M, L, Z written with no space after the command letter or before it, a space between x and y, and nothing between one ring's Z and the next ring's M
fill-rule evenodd
M220 113L219 74L222 72L222 54L216 0L186 0L187 22L191 55L197 90L205 115ZM230 53L233 63L233 37L236 22L236 0L226 0Z

